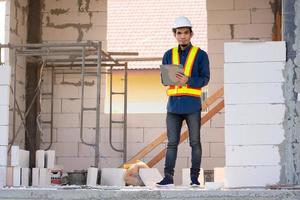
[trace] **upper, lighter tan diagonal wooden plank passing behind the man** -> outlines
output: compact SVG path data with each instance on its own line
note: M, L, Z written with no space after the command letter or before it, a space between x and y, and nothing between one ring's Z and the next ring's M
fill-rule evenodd
M208 106L213 104L218 98L222 97L224 94L224 87L220 88L213 95L208 97L205 102L203 102L202 109L206 109ZM184 133L183 133L184 134ZM133 163L136 160L140 160L145 157L148 153L150 153L153 149L155 149L158 145L163 143L167 139L167 133L163 132L160 136L158 136L153 142L148 144L146 147L141 149L135 156L133 156L130 160L128 160L125 164Z

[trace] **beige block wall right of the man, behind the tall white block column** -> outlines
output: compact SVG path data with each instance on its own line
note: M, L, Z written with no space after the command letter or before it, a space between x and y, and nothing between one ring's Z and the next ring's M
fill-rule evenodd
M224 84L224 42L250 38L271 40L274 16L270 0L207 0L208 55L211 80L208 95ZM216 134L211 137L210 150L217 150L218 165L225 165L224 110L219 112L203 131ZM205 161L204 161L205 162Z

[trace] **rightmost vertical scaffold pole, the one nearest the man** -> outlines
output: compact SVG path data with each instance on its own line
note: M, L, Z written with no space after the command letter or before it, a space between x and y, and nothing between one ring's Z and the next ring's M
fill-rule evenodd
M124 124L123 124L123 163L127 161L127 83L128 83L128 63L125 63L124 75Z

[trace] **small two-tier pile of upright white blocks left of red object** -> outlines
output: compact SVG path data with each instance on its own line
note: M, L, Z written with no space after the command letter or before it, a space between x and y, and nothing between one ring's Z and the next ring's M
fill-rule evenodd
M37 150L35 168L32 169L32 186L51 185L51 169L55 165L54 150Z

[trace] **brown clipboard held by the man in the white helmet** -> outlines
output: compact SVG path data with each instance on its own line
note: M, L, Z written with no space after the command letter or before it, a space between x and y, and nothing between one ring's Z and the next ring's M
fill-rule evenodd
M160 65L160 72L162 83L164 85L180 85L180 82L176 78L176 74L183 74L183 66L182 65Z

